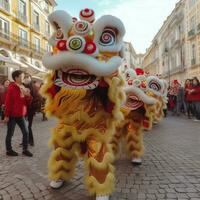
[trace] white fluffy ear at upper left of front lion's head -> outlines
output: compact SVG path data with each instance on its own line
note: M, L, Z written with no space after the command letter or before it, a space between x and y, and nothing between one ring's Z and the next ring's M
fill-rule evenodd
M73 25L73 19L64 10L56 10L48 16L48 20L55 31L53 36L49 39L49 43L52 46L55 46L55 36L57 34L57 31L60 31L61 34L63 34L63 38L67 39L68 32L70 31Z

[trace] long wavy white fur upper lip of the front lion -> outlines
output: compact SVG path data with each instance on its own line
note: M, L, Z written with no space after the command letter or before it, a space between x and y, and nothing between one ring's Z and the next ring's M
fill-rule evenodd
M114 73L121 65L122 59L119 56L110 58L107 62L98 61L97 59L86 54L75 54L72 52L60 52L52 55L47 53L43 57L43 65L47 69L84 69L88 73L96 76L109 76Z

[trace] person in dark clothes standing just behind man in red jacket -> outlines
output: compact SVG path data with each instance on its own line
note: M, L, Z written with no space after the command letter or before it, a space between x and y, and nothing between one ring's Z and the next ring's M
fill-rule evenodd
M33 124L34 115L36 114L36 112L40 111L41 109L42 97L39 94L39 91L38 91L37 86L35 85L35 82L32 81L31 75L28 73L25 74L24 86L30 90L31 96L33 97L31 104L28 106L27 119L28 119L28 131L29 131L28 143L31 146L34 146L32 124Z

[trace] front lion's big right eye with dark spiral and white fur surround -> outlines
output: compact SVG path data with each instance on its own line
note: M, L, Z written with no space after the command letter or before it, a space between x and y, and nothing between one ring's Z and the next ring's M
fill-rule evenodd
M120 19L112 15L104 15L93 25L94 41L100 51L120 52L123 46L125 27Z

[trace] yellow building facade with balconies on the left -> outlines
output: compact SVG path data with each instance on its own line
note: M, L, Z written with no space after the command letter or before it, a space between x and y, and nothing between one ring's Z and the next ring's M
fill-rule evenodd
M0 0L0 80L15 69L35 78L46 72L41 59L50 51L47 16L55 6L54 0Z

